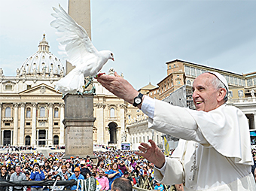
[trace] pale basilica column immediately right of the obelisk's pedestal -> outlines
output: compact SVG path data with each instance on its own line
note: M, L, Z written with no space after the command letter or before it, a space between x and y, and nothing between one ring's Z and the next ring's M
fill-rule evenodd
M98 115L97 115L97 144L105 143L105 126L104 126L104 109L105 104L97 104Z

